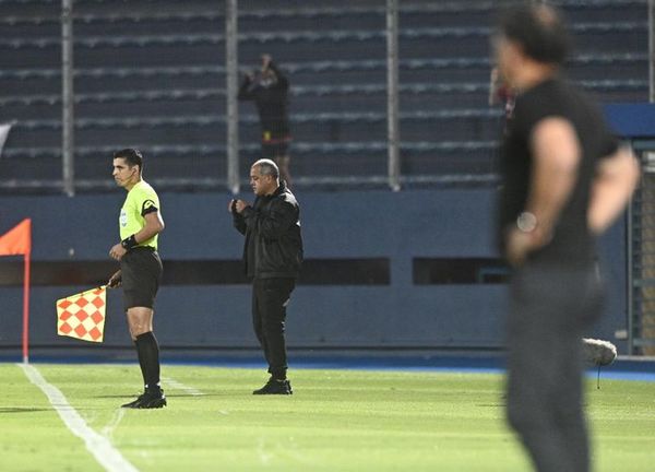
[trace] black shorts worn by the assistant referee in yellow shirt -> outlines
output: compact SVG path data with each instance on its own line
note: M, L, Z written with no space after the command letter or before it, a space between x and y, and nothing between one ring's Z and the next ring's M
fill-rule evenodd
M155 306L155 296L162 280L162 259L151 247L130 249L120 260L123 287L123 307Z

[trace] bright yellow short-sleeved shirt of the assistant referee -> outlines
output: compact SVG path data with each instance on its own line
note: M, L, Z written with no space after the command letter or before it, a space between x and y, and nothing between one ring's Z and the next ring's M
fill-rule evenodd
M159 197L150 184L141 180L128 192L126 202L120 209L118 225L121 240L139 233L145 226L144 216L155 211L160 211ZM138 246L150 246L157 249L157 236L155 235Z

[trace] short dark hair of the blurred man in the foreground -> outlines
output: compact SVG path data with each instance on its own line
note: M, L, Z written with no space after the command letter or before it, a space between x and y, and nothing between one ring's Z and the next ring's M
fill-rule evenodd
M538 62L561 66L571 48L562 14L543 3L509 8L500 17L499 32Z

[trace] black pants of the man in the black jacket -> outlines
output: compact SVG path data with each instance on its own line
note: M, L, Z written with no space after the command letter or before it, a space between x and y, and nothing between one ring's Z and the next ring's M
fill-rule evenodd
M276 379L286 378L286 306L295 286L295 279L252 281L252 326L269 363L269 373Z

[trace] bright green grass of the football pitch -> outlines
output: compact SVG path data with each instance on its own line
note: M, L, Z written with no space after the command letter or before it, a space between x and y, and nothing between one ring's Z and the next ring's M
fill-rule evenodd
M294 370L293 397L253 397L261 370L164 366L163 410L120 411L136 366L37 365L142 471L527 471L499 375ZM102 471L41 391L0 364L0 471ZM597 471L655 467L655 385L590 380ZM124 413L121 416L121 413Z

